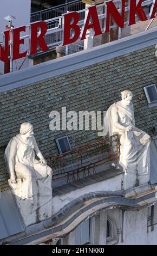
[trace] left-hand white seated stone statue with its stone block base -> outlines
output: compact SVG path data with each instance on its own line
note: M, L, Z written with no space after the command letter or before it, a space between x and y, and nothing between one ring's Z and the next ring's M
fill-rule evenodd
M40 159L35 159L35 153ZM33 127L23 123L5 149L9 185L26 226L52 215L52 170L38 149Z

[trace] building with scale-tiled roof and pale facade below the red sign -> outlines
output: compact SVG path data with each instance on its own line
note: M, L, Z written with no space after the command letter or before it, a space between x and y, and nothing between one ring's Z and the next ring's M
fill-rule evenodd
M157 244L157 103L148 102L144 90L156 85L156 31L155 27L0 77L1 244ZM52 112L57 111L62 118L65 107L66 113L75 111L77 117L80 111L99 111L103 122L103 112L120 100L125 89L133 92L136 126L151 136L149 182L127 188L123 186L126 173L111 167L112 159L107 156L106 161L99 160L95 167L97 148L87 154L89 145L100 145L104 139L98 136L97 129L91 129L91 120L88 130L64 129L62 121L60 129L51 130ZM65 117L68 122L70 115L64 112ZM81 165L74 173L69 162L57 163L61 169L67 168L60 173L52 164L52 217L29 227L25 227L12 197L4 162L6 145L25 121L34 126L37 144L49 165L59 154L56 139L68 136L71 155L76 151L78 155L79 150L75 149L81 147L83 152L85 147L83 164L86 162L89 169L87 174ZM74 127L74 122L71 126Z

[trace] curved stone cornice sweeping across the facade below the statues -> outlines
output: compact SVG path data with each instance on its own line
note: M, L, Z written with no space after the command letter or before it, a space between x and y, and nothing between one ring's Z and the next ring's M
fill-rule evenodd
M148 198L155 196L155 192L149 193ZM38 229L38 233L34 233L33 228L25 230L25 237L23 239L10 243L11 245L38 245L44 241L62 237L71 233L79 224L87 218L95 215L101 210L108 210L113 208L121 208L126 210L140 210L143 205L142 202L145 196L139 198L126 198L122 195L114 193L106 193L104 191L93 194L86 194L81 198L77 198L68 205L65 205L57 212L51 219L43 221ZM79 206L81 205L81 207ZM77 211L70 210L77 205ZM151 204L147 204L149 206Z

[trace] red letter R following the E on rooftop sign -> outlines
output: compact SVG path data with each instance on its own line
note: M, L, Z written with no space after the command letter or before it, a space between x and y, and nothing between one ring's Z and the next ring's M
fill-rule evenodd
M47 33L47 22L38 21L30 25L31 26L31 47L30 54L37 53L37 42L42 51L48 51L49 47L45 43L43 36ZM40 35L37 37L37 29L40 27Z

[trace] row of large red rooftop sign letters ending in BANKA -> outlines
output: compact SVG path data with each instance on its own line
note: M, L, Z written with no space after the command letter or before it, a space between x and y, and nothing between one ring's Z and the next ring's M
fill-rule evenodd
M83 22L82 29L78 25L80 20L80 14L72 11L70 13L63 14L63 33L62 33L62 45L72 44L78 39L86 39L86 33L88 29L93 31L93 35L101 35L102 33L107 33L110 31L110 17L113 18L115 24L124 28L125 24L125 4L126 0L121 1L121 9L117 10L115 4L112 1L105 2L105 21L104 27L101 28L99 16L97 14L97 9L95 5L88 8L86 16ZM128 26L136 23L136 15L139 17L140 21L146 21L155 17L155 11L157 8L157 0L153 1L149 17L147 18L145 11L142 7L142 0L139 2L136 0L130 0L128 3ZM44 40L44 35L47 33L48 26L45 21L37 21L31 23L30 25L30 38L29 47L25 52L20 52L20 45L24 44L24 39L21 39L20 33L25 32L26 27L18 27L12 29L13 45L12 45L12 56L11 60L16 60L23 58L27 55L32 55L37 53L37 46L39 46L41 51L48 51L49 47ZM40 33L38 33L40 31ZM10 31L6 30L4 33L3 46L0 44L0 60L2 62L8 62L9 58L9 38Z

